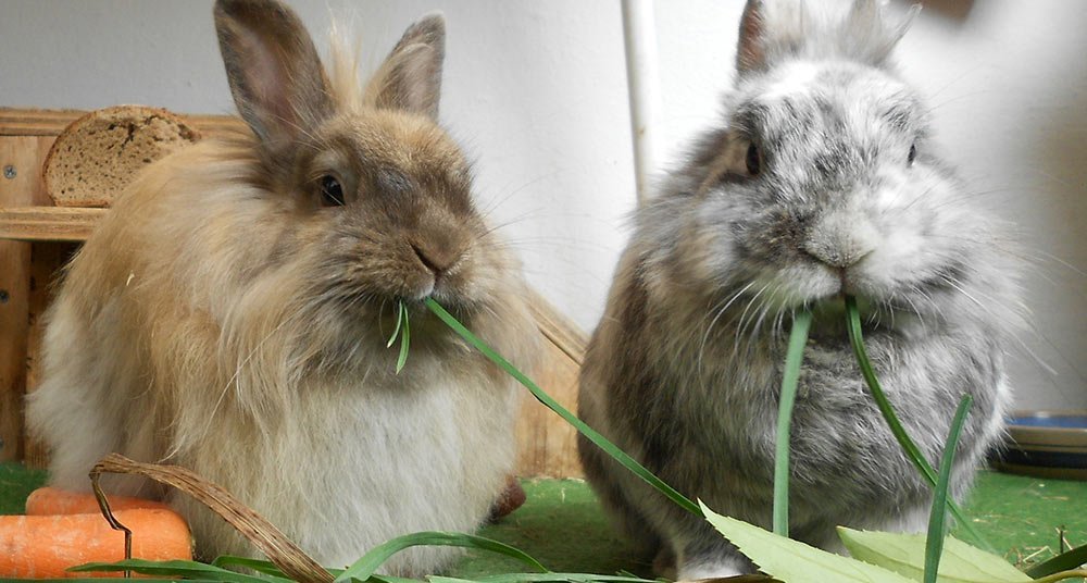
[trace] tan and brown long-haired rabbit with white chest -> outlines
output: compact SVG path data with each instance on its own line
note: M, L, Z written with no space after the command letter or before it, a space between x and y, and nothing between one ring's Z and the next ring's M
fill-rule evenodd
M472 531L512 470L517 394L421 300L521 365L538 334L435 121L442 20L409 28L362 88L342 71L329 84L278 3L221 1L215 16L253 133L150 166L68 266L28 404L51 481L86 489L110 451L185 466L332 567L396 535ZM399 375L398 300L412 333ZM184 496L112 486L170 499L204 558L252 553ZM387 569L453 556L413 549Z

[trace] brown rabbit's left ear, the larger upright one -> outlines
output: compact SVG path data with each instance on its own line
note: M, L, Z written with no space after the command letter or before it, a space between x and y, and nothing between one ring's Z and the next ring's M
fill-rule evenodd
M302 22L274 0L217 0L215 30L241 117L272 159L333 112Z

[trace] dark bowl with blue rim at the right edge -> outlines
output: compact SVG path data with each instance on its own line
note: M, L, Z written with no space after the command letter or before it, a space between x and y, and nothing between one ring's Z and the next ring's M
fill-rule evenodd
M997 469L1087 481L1087 410L1015 411Z

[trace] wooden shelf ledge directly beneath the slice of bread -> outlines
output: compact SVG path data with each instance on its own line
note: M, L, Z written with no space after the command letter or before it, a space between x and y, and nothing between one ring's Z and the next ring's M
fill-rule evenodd
M0 208L0 239L84 241L108 209Z

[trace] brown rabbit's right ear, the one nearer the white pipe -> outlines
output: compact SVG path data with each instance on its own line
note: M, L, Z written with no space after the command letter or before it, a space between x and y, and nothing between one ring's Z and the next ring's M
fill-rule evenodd
M370 80L364 97L366 104L437 120L445 57L446 20L441 14L424 16L408 27Z

